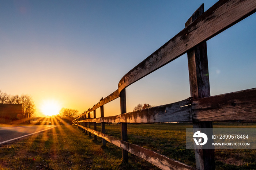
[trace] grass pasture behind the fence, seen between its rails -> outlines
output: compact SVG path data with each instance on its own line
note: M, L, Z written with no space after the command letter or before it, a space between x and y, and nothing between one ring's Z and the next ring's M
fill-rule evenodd
M214 124L215 128L255 128L247 124ZM193 149L186 149L186 128L192 124L128 124L128 142L195 167ZM97 127L100 131L100 127ZM120 125L106 125L106 134L121 139ZM255 149L215 149L216 169L256 169Z

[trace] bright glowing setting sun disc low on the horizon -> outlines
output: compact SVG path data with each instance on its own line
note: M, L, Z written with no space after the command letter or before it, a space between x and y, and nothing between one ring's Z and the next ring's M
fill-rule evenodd
M46 116L53 116L59 114L61 106L56 100L46 100L41 105L41 112Z

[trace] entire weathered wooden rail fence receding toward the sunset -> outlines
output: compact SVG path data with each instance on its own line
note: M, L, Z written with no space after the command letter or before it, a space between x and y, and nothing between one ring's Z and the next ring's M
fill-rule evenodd
M72 124L122 148L123 161L128 152L153 163L161 169L194 169L164 155L128 143L127 123L193 122L193 128L212 128L212 121L256 120L256 88L210 96L206 41L256 12L255 0L220 0L204 12L201 5L185 23L185 28L157 51L135 66L120 80L118 89L83 112ZM191 97L172 104L142 111L126 111L125 88L160 67L188 54ZM104 104L120 97L121 114L104 117ZM100 108L101 117L96 118ZM90 112L94 117L90 118ZM96 129L101 122L102 132ZM94 130L90 128L94 123ZM105 134L105 123L121 123L122 140ZM87 127L88 126L88 127ZM215 169L214 149L195 149L196 169Z

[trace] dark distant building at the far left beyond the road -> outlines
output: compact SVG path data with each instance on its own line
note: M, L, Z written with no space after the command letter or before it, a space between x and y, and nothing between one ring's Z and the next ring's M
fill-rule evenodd
M0 104L0 123L12 124L22 119L22 104Z

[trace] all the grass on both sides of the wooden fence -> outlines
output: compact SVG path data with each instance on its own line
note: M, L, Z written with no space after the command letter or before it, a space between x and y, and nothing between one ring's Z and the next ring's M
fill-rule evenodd
M195 167L194 151L185 148L185 129L191 127L191 124L128 124L128 142ZM97 130L101 131L100 125ZM106 125L108 135L121 139L120 131L120 125ZM0 169L158 169L132 154L129 163L123 164L120 148L108 142L102 148L101 139L94 141L93 136L69 125L1 145ZM215 162L216 169L256 169L256 150L215 150Z

